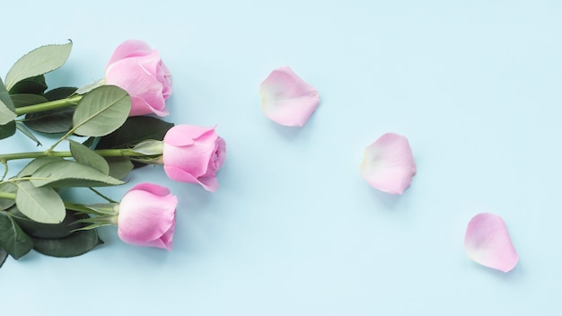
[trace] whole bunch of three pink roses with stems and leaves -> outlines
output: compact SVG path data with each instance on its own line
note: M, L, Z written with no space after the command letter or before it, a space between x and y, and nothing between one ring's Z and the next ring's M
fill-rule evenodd
M117 200L95 189L124 184L137 167L162 165L171 180L218 188L225 143L215 128L159 118L169 114L171 75L158 51L127 40L110 57L105 78L48 89L45 74L63 66L71 48L72 42L36 48L0 80L0 139L27 136L42 145L38 133L60 136L43 151L0 152L0 267L8 255L19 259L31 250L81 255L103 243L103 225L117 225L127 243L171 250L178 198L169 189L138 183ZM9 162L20 159L29 162L11 171ZM71 187L103 203L63 198Z

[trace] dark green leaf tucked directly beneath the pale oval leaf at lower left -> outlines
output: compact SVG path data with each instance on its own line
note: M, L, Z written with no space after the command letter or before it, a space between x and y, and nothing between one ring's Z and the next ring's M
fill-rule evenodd
M43 224L31 221L17 207L10 208L8 212L13 215L14 221L20 225L23 232L36 238L63 238L69 236L75 229L83 226L83 224L75 223L82 219L83 215L69 210L66 210L65 220L59 224Z

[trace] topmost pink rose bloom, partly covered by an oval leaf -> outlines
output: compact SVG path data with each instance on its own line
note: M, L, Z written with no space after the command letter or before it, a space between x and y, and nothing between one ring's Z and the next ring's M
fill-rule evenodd
M165 100L171 94L171 75L158 51L141 40L127 40L113 52L105 68L105 83L131 96L130 116L168 115Z

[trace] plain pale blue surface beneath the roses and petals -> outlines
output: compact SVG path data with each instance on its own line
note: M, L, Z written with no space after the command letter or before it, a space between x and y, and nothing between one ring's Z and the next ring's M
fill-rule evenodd
M105 228L81 257L9 258L3 315L562 313L562 2L49 1L2 16L3 77L32 48L72 39L48 81L91 83L123 40L145 40L173 75L166 119L216 125L228 150L215 194L158 167L103 189L171 188L171 252ZM321 94L302 128L260 110L278 66ZM407 136L417 162L400 197L358 171L386 132ZM23 139L0 151L36 150ZM520 255L508 274L464 250L485 211Z

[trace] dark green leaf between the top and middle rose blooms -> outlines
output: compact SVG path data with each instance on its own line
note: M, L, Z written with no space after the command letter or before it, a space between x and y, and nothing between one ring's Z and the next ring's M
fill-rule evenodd
M101 137L96 148L130 148L145 140L162 140L171 127L173 127L173 123L165 122L160 118L130 117L115 132Z

